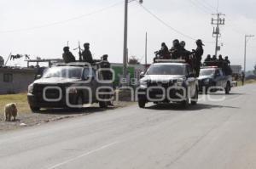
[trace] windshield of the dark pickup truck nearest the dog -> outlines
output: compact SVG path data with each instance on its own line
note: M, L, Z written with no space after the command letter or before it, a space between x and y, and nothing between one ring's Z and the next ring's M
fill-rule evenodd
M70 79L80 79L83 68L81 67L52 67L44 73L44 78L62 77Z

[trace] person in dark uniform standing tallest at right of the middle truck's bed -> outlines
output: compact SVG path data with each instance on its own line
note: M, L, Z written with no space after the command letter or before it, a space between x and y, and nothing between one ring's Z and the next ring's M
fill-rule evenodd
M195 76L199 76L200 74L200 66L201 66L201 56L204 54L204 49L202 46L205 46L202 42L201 39L196 40L196 46L197 48L193 50L194 53L194 69L195 69Z

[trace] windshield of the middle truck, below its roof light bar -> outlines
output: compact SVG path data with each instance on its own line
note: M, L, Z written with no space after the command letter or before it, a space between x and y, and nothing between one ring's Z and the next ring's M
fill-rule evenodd
M151 65L147 75L185 75L185 65Z

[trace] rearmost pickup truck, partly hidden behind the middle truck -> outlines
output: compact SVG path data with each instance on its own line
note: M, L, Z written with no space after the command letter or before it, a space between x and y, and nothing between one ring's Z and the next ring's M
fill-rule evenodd
M201 67L198 77L199 90L202 93L224 91L230 93L232 87L232 76L226 75L225 71L218 66Z

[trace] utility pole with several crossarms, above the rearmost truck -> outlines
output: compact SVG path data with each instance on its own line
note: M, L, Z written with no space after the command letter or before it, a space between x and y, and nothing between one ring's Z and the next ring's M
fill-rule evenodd
M212 37L216 38L216 44L215 44L215 56L217 57L218 51L220 50L220 46L218 46L218 38L221 37L220 31L219 31L219 25L225 24L225 19L220 18L220 16L224 16L224 14L212 14L217 15L217 20L212 18L212 25L216 25L216 27L213 27Z

